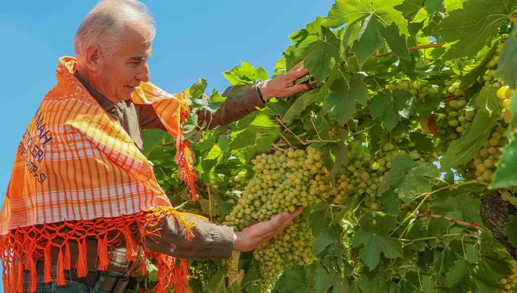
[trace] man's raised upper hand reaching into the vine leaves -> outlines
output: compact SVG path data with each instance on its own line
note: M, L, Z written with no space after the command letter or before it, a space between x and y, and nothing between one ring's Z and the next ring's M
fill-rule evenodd
M309 70L303 67L303 63L294 66L288 73L279 75L272 80L264 81L261 87L262 96L266 100L277 97L277 98L288 98L293 96L295 93L300 91L307 91L310 89L309 84L294 84L296 80L309 73Z

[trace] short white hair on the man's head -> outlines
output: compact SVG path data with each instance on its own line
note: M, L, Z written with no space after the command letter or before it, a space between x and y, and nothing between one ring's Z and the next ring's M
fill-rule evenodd
M73 50L78 59L85 56L90 45L98 45L110 56L118 43L124 26L131 24L148 33L145 40L150 45L156 36L154 18L144 3L137 0L101 0L86 15L73 40Z

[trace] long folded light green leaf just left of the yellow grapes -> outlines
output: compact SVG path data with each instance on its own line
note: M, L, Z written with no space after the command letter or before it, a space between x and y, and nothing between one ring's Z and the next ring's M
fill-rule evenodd
M476 98L476 105L481 109L465 133L449 145L449 149L441 160L442 170L468 163L483 147L483 143L488 140L495 122L500 119L499 105L495 101L497 99L496 91L497 89L494 87L483 87Z

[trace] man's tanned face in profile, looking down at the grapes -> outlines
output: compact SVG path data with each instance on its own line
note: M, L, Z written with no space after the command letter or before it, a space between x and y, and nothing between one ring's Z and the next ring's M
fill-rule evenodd
M146 33L126 27L120 36L122 42L116 45L111 56L101 48L98 78L92 87L112 103L129 100L140 82L149 80L147 59L151 56L151 45L144 44L146 37Z

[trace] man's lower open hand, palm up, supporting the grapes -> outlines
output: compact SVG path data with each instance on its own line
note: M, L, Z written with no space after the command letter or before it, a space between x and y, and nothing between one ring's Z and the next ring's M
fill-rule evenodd
M242 229L241 232L235 232L233 250L249 251L261 246L276 234L282 232L289 223L300 215L303 206L298 206L293 213L277 213L271 220L255 223Z

